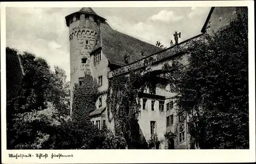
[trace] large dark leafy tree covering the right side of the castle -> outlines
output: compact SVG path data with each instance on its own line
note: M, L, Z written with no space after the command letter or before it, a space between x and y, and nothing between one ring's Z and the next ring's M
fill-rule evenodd
M201 149L248 149L248 21L241 15L206 43L196 43L188 64L175 62L170 79L179 112ZM175 79L175 80L174 80Z

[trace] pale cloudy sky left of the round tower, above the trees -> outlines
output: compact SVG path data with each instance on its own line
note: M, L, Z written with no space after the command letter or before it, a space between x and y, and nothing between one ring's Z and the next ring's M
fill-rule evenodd
M52 69L58 65L69 79L69 28L62 10L7 8L6 45L46 59Z

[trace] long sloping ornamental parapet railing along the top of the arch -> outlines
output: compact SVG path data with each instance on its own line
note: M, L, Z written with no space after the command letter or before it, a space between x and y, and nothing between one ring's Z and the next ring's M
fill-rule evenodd
M156 62L159 62L159 61L167 59L171 56L174 56L175 54L184 52L185 50L191 48L194 45L195 41L204 42L204 35L199 34L195 37L189 38L185 41L175 44L168 49L162 50L160 52L157 52L155 54L152 54L150 56L142 58L138 61L132 62L132 63L124 65L118 69L115 69L114 71L109 72L109 79L111 79L115 76L129 73L131 71L135 71L136 69L154 64Z

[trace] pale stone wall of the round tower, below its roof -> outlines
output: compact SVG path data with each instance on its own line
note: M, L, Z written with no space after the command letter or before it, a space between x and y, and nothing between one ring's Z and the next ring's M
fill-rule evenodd
M84 14L80 20L73 18L69 27L70 39L70 79L71 79L71 112L73 101L73 87L78 83L78 78L83 77L84 73L90 74L90 53L95 43L95 37L98 34L99 26L92 18L85 19ZM87 58L86 63L81 59Z

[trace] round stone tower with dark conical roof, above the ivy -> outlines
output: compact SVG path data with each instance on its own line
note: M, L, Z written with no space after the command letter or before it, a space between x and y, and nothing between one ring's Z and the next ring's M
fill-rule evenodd
M91 8L66 16L70 40L70 107L72 114L73 87L80 84L84 74L90 74L90 53L99 33L100 23L105 19L98 16ZM100 35L100 34L99 34Z

